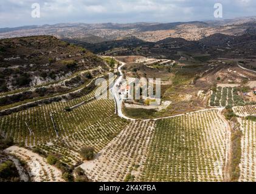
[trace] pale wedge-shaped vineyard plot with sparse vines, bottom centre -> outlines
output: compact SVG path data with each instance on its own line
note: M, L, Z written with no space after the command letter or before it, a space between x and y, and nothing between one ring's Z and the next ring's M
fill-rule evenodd
M82 164L93 181L140 181L154 122L133 121L99 153Z

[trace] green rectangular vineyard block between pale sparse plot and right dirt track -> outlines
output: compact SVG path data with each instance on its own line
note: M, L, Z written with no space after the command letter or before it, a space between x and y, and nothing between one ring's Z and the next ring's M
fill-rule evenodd
M216 110L156 121L142 181L223 181L226 134Z

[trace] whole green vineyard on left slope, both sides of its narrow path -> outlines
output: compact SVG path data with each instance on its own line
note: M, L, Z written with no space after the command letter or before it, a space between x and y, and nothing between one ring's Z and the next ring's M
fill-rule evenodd
M15 142L56 153L68 165L76 164L81 161L78 153L81 147L92 146L99 152L126 124L115 115L114 100L100 99L83 104L94 95L92 92L71 101L54 102L2 116L1 133L12 136ZM75 108L69 111L66 107Z

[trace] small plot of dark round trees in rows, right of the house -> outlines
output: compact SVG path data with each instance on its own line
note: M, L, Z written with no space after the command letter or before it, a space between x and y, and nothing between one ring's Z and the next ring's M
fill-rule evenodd
M210 96L210 106L226 107L226 105L244 105L243 98L238 95L237 88L218 87Z

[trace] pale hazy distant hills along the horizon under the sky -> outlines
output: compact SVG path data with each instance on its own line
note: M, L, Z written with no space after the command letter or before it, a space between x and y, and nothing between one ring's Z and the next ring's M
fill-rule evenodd
M246 29L255 26L256 17L237 18L218 21L190 21L134 24L85 24L63 23L55 25L35 25L15 28L0 28L0 39L21 36L52 35L61 39L83 40L86 43L115 41L125 37L136 37L148 42L157 42L165 38L184 38L188 41L223 33L241 36Z

